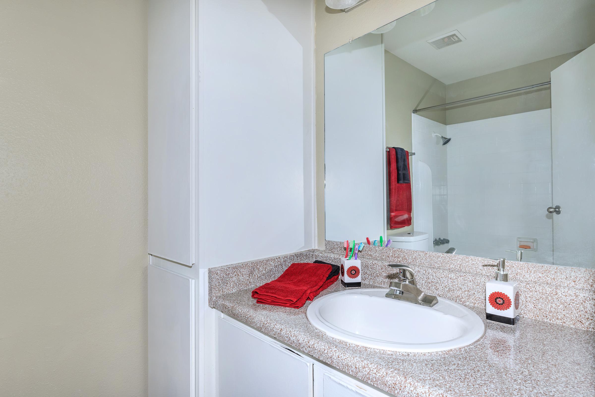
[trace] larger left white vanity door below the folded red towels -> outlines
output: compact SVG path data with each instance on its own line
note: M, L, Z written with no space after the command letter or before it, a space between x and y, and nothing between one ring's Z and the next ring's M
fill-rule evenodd
M218 339L219 397L312 396L312 364L300 355L226 318Z

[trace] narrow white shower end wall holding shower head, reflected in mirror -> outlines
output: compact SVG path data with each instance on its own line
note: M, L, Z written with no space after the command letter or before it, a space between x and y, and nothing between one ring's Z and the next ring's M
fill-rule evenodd
M434 239L449 238L447 212L447 146L442 146L440 137L436 133L447 136L444 124L428 120L417 114L412 115L412 143L415 160L425 162L432 171L432 210ZM415 208L414 208L415 212ZM415 225L414 225L415 228ZM425 232L425 230L415 230ZM447 246L436 246L436 251L445 251ZM444 249L441 249L444 248Z

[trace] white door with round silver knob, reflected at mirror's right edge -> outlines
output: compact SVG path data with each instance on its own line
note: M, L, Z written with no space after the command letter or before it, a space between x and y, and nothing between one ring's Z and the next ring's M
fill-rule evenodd
M553 262L595 267L595 45L552 71Z

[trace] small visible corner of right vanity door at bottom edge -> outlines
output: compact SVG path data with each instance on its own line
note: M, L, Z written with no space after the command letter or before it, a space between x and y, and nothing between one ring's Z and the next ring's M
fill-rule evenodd
M384 397L384 392L339 371L314 365L314 397Z

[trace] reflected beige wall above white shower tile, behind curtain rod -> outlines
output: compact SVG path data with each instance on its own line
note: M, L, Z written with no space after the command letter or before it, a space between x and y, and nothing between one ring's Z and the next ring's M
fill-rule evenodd
M446 86L446 101L460 101L474 96L547 82L550 80L552 70L579 52L571 52L449 84ZM483 120L484 118L524 113L550 107L552 107L550 86L544 86L449 107L446 111L446 124L466 123L467 121ZM427 117L426 112L420 113L420 115Z

